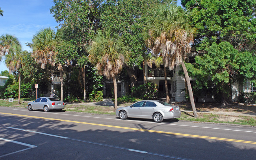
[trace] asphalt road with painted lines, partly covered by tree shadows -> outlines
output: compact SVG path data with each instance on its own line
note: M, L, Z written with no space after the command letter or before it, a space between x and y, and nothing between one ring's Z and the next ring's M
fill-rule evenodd
M0 160L255 160L256 127L0 107Z

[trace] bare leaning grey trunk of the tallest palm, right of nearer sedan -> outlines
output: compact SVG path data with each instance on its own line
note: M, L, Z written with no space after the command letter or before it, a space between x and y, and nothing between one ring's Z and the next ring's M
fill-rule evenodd
M189 93L189 99L190 99L190 102L191 102L191 105L192 105L193 115L196 118L197 117L197 110L196 110L196 106L195 106L193 91L192 91L189 76L188 76L188 73L187 73L187 68L186 68L186 65L185 65L183 60L181 62L181 65L182 65L182 69L184 71L185 79L187 81L187 89L188 89L188 93Z

